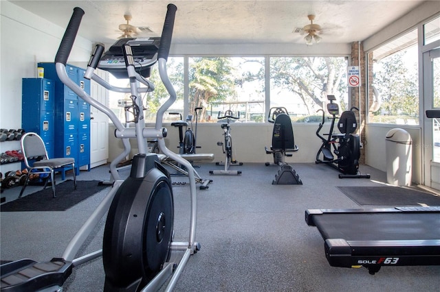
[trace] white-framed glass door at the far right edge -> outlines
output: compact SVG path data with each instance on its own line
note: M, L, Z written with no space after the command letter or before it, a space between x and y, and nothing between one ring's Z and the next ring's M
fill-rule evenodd
M423 100L425 110L440 110L440 48L423 53ZM440 190L440 119L424 115L423 136L424 184Z

